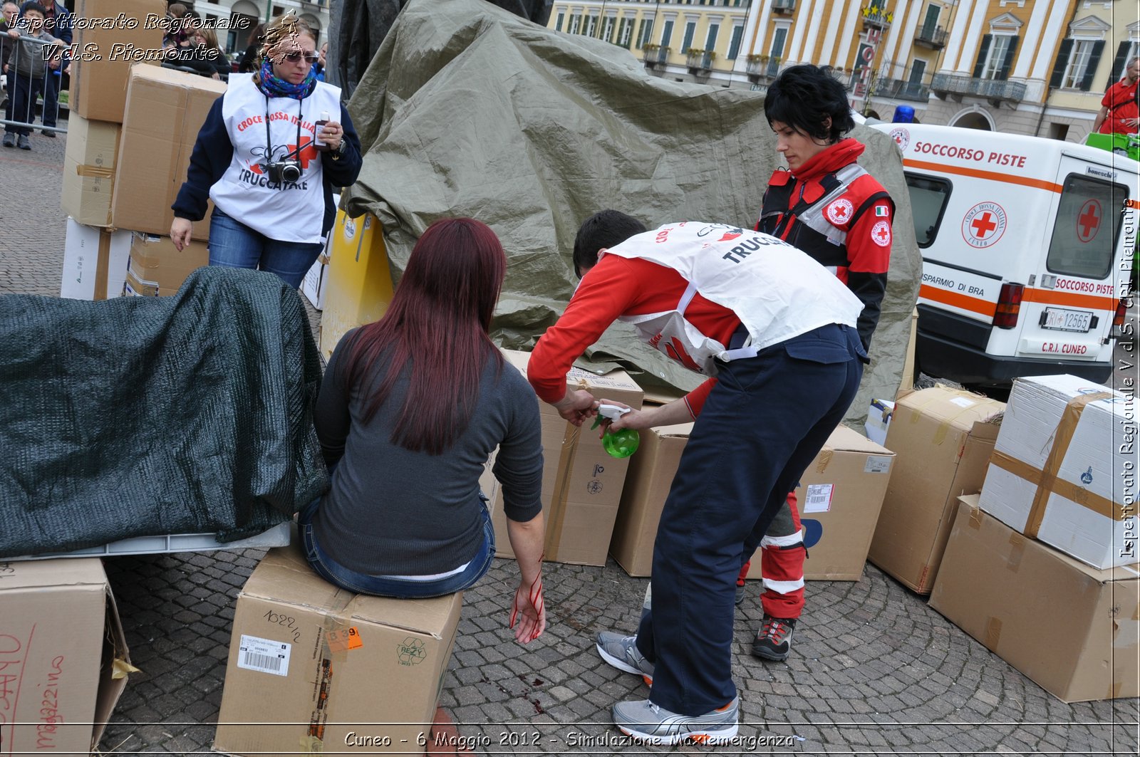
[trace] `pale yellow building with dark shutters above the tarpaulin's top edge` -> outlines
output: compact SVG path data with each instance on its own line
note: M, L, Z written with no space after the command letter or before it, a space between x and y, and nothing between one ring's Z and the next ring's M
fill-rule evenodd
M750 0L555 0L549 29L624 47L677 81L747 87L740 57Z

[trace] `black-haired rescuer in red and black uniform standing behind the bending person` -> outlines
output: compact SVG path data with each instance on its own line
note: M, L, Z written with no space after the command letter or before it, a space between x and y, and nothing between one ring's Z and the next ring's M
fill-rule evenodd
M768 180L756 230L803 250L847 285L863 303L858 335L870 351L887 287L895 203L855 162L863 145L842 137L855 128L847 91L824 68L791 66L768 88L764 113L788 169ZM804 611L807 550L793 497L759 544L764 620L752 653L767 660L788 658ZM746 562L736 578L738 601L749 567Z

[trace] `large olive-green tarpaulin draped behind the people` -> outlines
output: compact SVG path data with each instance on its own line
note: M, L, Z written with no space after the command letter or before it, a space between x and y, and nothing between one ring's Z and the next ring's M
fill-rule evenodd
M743 76L743 74L740 74ZM482 0L412 0L349 108L366 155L349 212L375 213L398 279L437 219L470 215L503 241L508 269L496 342L524 349L562 312L583 219L614 207L650 228L693 219L751 228L776 168L764 97L676 82L628 50L555 32ZM860 163L897 204L890 275L872 364L848 421L894 398L921 259L902 157L886 135L856 127ZM642 382L691 389L700 377L616 325L586 358Z

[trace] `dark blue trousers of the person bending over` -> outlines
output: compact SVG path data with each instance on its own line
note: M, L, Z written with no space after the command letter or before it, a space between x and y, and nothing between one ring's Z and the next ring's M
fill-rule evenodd
M839 425L865 359L856 329L831 325L718 364L653 544L653 607L637 648L656 664L654 705L703 715L736 695L733 601L744 545L759 544Z

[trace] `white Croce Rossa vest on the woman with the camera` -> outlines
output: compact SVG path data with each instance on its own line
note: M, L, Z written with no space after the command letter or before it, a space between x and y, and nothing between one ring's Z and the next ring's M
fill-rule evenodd
M320 154L311 146L317 132L314 122L321 112L328 113L333 121L340 120L341 90L318 82L312 95L303 100L271 97L267 103L253 83L253 74L234 74L223 98L222 119L234 143L234 158L210 188L214 205L270 239L321 242L325 190ZM285 160L290 153L294 153L290 157L301 162L301 178L295 182L270 182L264 163Z

